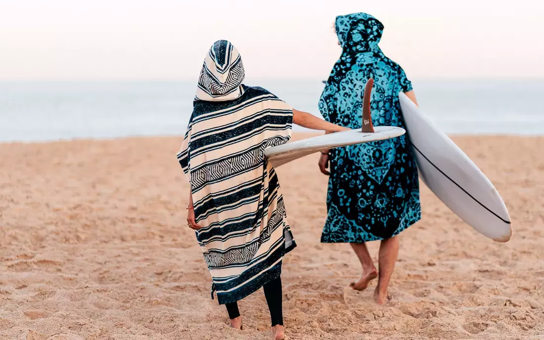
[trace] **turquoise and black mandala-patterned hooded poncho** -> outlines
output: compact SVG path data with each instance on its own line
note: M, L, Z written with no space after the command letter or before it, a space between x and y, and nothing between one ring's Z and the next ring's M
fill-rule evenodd
M336 18L343 52L319 100L327 121L361 128L364 86L374 78L374 125L405 127L398 95L412 90L412 85L378 47L383 29L381 22L364 13ZM390 238L421 218L417 168L406 135L333 149L330 172L322 242Z

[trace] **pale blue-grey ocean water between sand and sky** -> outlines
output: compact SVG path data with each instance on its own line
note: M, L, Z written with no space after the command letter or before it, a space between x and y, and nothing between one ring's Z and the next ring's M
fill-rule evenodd
M250 81L319 115L319 81ZM195 82L0 82L0 141L181 135ZM544 134L544 79L413 81L448 134ZM301 128L298 128L302 130Z

